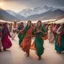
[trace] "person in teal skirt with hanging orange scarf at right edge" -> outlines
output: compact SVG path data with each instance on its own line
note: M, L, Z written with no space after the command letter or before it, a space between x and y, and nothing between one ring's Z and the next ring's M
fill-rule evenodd
M64 24L61 25L56 31L55 50L58 53L64 51Z

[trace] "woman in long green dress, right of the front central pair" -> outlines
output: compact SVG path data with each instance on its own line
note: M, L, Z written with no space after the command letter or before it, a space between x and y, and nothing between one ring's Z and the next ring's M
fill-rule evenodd
M37 26L34 28L33 34L35 35L35 48L36 53L39 57L39 60L41 59L41 55L44 53L44 40L42 39L42 36L46 34L47 31L44 27L42 27L42 22L39 20L37 22Z

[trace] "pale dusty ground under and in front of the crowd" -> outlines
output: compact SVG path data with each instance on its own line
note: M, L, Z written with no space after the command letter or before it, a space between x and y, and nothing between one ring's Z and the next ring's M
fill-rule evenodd
M50 44L48 40L44 43L45 51L40 61L33 50L30 50L30 57L26 57L18 45L17 37L12 43L11 49L0 52L0 64L64 64L64 54L57 54L54 44Z

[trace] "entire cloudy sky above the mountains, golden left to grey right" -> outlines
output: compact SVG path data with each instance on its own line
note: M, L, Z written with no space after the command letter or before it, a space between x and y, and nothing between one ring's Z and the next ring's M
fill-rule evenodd
M64 7L64 0L0 0L0 8L19 12L26 8L53 6Z

